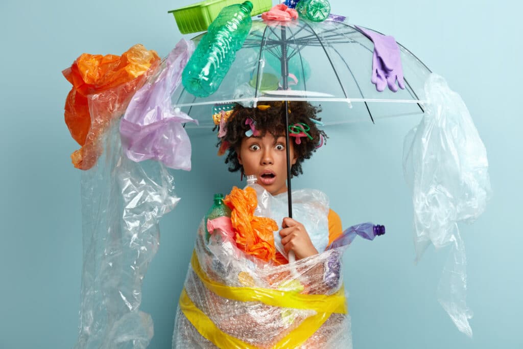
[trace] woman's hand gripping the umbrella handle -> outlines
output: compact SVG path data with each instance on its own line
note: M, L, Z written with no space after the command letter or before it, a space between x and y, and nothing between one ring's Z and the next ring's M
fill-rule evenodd
M281 244L286 253L294 251L297 260L318 254L302 223L286 217L283 218L282 227L283 229L280 230Z

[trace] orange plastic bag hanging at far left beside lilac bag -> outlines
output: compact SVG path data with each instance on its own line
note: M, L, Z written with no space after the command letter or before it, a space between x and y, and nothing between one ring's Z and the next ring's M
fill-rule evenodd
M73 85L65 101L65 123L82 146L71 154L76 168L88 170L96 164L101 135L159 63L156 52L137 44L121 56L84 53L62 72Z

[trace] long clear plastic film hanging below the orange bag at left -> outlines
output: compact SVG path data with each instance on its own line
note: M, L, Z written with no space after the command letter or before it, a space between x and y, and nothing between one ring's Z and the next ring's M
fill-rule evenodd
M161 163L122 155L118 122L100 139L105 152L82 172L83 273L76 349L142 349L153 336L139 310L142 280L158 249L158 220L179 198Z

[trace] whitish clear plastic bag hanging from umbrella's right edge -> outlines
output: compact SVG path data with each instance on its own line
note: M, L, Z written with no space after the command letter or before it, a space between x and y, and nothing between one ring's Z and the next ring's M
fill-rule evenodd
M458 329L472 336L465 301L467 274L458 222L483 213L491 194L485 146L460 95L444 78L425 83L425 114L404 143L405 178L413 189L416 261L432 243L451 245L441 277L439 301Z

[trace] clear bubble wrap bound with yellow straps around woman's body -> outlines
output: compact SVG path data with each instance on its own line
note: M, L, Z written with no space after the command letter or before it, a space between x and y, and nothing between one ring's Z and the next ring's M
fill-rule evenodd
M309 198L321 193L295 192ZM263 210L262 200L256 211ZM293 211L302 207L295 205ZM324 210L317 207L310 227ZM202 222L179 300L174 348L352 347L342 280L344 247L277 265L245 254L228 232L214 230L206 244L205 231ZM323 234L328 237L328 227Z

